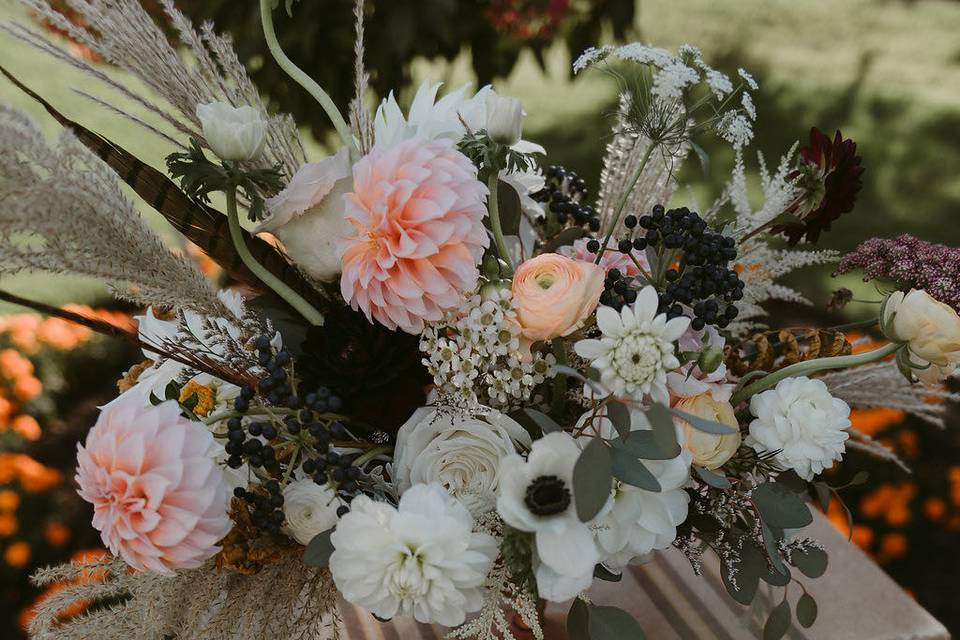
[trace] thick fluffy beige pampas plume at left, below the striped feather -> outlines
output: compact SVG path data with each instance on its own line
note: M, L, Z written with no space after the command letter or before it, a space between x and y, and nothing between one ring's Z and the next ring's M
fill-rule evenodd
M0 274L20 271L91 276L134 302L227 313L71 132L51 147L29 117L0 107Z

